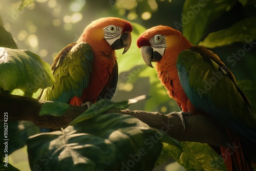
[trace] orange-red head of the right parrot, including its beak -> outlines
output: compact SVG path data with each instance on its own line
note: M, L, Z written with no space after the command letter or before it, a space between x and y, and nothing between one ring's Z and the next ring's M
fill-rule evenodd
M153 68L151 62L160 62L163 58L177 57L173 52L180 53L190 42L177 30L168 26L156 26L147 29L137 39L137 46L146 65Z

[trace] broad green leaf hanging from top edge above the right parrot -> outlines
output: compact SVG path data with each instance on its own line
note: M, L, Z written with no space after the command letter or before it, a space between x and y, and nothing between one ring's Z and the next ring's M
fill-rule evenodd
M182 12L183 35L197 45L210 23L229 11L237 1L195 1L186 0ZM177 26L176 26L177 27Z

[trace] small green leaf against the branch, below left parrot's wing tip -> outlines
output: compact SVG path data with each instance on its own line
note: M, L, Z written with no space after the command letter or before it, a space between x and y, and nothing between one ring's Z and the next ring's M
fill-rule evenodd
M39 116L62 116L69 109L70 104L68 103L59 103L59 102L47 102L41 105L41 110Z

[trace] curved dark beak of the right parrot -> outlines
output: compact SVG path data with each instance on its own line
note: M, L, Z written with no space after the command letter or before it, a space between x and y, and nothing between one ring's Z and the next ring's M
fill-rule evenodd
M153 48L150 46L142 46L140 48L140 52L146 65L150 66L151 68L154 68L151 62L157 62L162 59L162 55L157 51L153 51Z

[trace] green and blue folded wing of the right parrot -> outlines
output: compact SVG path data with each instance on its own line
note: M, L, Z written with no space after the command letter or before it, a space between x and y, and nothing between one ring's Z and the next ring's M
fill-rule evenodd
M256 130L249 100L216 54L201 46L191 47L178 56L177 69L182 88L197 109Z

